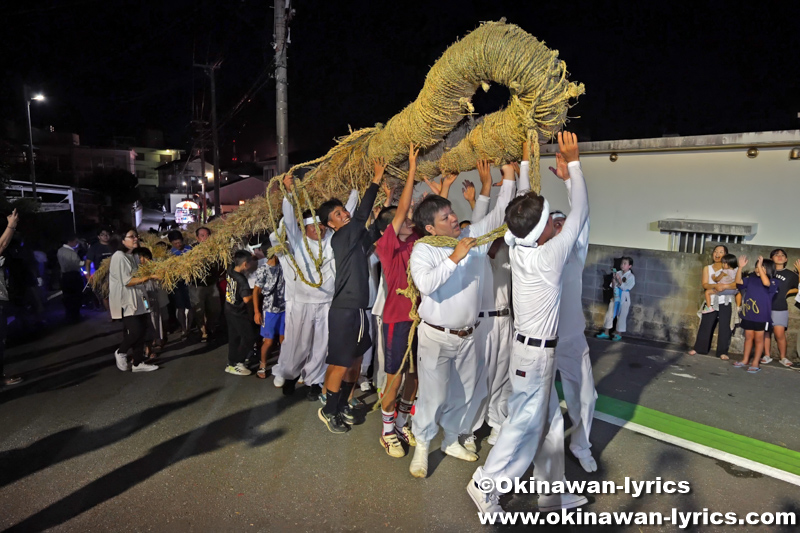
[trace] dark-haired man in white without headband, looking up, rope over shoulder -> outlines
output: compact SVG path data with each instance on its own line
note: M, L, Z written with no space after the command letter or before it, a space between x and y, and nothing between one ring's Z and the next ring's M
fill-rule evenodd
M481 172L487 161L479 162ZM450 202L428 196L414 210L414 225L426 235L459 239L454 248L419 243L411 253L409 268L422 295L419 316L419 397L414 417L417 447L411 475L428 473L428 446L444 429L442 451L466 461L478 456L458 442L458 434L477 382L479 368L473 335L481 302L484 256L491 243L476 246L481 236L502 224L503 214L516 190L514 169L503 166L503 185L494 210L480 222L461 230ZM481 356L482 357L482 356Z

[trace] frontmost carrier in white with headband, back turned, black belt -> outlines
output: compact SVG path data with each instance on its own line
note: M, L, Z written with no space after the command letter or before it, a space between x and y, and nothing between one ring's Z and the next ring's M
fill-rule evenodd
M589 202L577 138L559 133L558 146L556 157L569 172L562 179L572 182L568 188L572 212L561 234L556 236L547 200L536 193L515 198L506 209L516 334L509 366L508 418L486 464L467 485L482 512L502 511L499 492L486 491L487 486L522 476L531 461L537 481L564 481L564 420L555 390L558 308L564 265L589 217ZM548 512L586 502L574 494L546 494L538 503L540 511Z

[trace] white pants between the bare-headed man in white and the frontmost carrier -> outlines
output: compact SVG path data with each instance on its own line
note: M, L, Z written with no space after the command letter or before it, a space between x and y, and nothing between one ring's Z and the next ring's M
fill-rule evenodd
M508 364L511 359L511 342L514 323L511 315L482 317L475 332L475 348L481 360L478 381L472 402L467 409L462 434L471 434L483 426L484 420L493 428L500 428L508 416L508 395L511 382Z

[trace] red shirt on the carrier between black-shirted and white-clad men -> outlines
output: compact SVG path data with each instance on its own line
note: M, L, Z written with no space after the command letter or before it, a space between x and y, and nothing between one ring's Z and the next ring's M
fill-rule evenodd
M397 294L397 289L408 288L408 260L411 248L419 239L416 233L408 236L405 242L397 238L394 226L389 224L378 242L375 243L375 254L381 260L383 277L386 279L386 305L383 307L383 321L387 324L409 322L411 318L411 300Z

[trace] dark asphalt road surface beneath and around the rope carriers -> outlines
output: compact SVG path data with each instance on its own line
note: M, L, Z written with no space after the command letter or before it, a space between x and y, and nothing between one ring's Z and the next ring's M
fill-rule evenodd
M224 373L226 346L174 343L159 371L122 373L112 355L119 329L95 314L6 351L6 372L26 381L0 392L0 529L492 530L480 525L464 490L475 463L445 458L432 445L429 477L414 479L410 456L392 459L379 445L379 416L333 435L304 389L285 397L270 380ZM800 373L773 364L747 375L668 347L590 345L600 394L800 450L792 399ZM592 440L600 470L586 474L568 455L568 479L661 477L689 481L692 490L597 495L585 511L800 512L798 486L602 421ZM489 449L484 442L481 462ZM511 511L536 510L535 496L501 502Z

